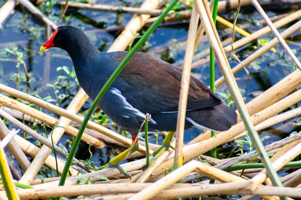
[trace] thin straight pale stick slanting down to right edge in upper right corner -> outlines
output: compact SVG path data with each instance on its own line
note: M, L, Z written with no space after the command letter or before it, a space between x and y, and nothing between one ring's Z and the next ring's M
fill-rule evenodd
M299 59L296 57L296 55L292 52L292 50L290 49L290 47L284 41L284 39L282 38L282 36L280 35L280 33L277 31L277 29L275 28L275 26L273 25L273 23L271 22L271 20L268 18L268 16L266 15L265 11L260 6L260 4L258 3L258 1L257 0L251 0L251 1L253 3L254 7L259 12L259 14L265 20L265 22L267 23L267 25L271 28L271 30L273 31L275 37L279 40L279 43L283 46L284 50L287 52L287 54L290 56L290 58L292 58L292 60L294 61L294 63L296 64L296 66L299 68L299 70L301 70L301 63L300 63Z

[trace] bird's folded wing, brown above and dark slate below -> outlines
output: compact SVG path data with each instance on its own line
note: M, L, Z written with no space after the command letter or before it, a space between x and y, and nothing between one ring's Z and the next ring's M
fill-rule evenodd
M151 60L151 61L150 61ZM119 74L119 90L141 112L176 112L182 71L149 54L137 52ZM143 97L143 101L137 97ZM191 76L187 110L222 104L206 85Z

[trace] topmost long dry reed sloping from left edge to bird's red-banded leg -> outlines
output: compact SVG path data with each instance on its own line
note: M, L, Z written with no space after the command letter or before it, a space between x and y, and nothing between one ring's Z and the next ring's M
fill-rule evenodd
M79 115L68 112L65 109L54 106L51 103L47 103L43 100L40 100L36 97L33 97L33 96L31 96L29 94L26 94L26 93L23 93L21 91L17 91L15 89L7 87L5 85L0 84L0 91L5 92L6 94L12 95L14 97L20 98L22 100L25 100L29 103L32 103L32 104L36 105L36 106L40 106L40 107L42 107L44 109L47 109L47 110L49 110L49 111L51 111L51 112L53 112L57 115L61 115L61 116L64 116L66 118L69 118L72 121L75 121L77 123L82 123L82 121L83 121L83 118L80 117ZM80 89L77 94L82 94L83 95L82 98L84 98L83 100L86 100L88 98L88 95L86 95L85 93L82 93L82 92L83 92L83 90ZM83 102L85 102L85 101L83 101ZM82 102L82 104L83 104L83 102ZM132 144L132 140L130 140L126 137L123 137L123 136L119 135L118 133L115 133L114 131L111 131L111 130L105 128L105 127L102 127L101 125L96 124L92 121L88 121L87 127L91 128L95 131L98 131L100 133L103 133L107 136L110 136L111 138L115 139L116 141L118 141L118 142L120 142L124 145L127 145L128 147ZM145 154L145 147L140 145L138 151Z

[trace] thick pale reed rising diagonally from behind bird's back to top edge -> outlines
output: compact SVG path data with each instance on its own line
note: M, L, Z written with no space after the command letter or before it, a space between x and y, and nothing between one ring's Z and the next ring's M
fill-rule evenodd
M145 0L140 8L142 9L156 9L162 0ZM113 44L110 46L107 52L124 50L131 43L133 37L137 31L140 30L150 15L134 15L128 24L124 27L124 30L116 38Z

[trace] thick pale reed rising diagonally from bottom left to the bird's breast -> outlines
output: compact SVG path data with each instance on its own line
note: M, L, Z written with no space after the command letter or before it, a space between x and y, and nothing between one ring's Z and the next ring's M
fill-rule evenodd
M76 94L70 104L67 107L67 111L72 113L77 113L79 109L81 108L83 102L85 102L85 96L83 94ZM61 117L57 121L57 126L54 127L54 130L52 131L52 134L48 136L48 140L52 141L54 144L56 144L63 133L65 132L66 126L70 124L71 120L65 117ZM29 185L33 178L37 175L43 164L45 163L45 160L52 152L52 149L46 147L43 145L39 151L39 153L36 155L36 157L33 159L32 163L30 164L30 167L26 170L26 172L23 174L22 178L20 179L19 183Z

